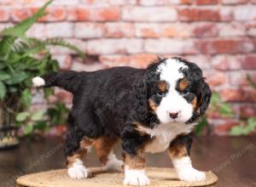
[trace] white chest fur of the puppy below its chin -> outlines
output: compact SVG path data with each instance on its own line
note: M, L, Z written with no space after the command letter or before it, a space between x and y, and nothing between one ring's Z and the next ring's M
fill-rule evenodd
M178 134L190 133L194 126L195 124L170 123L159 124L153 129L140 127L139 130L148 133L152 139L145 146L144 151L152 153L162 152L169 147L172 139L175 139Z

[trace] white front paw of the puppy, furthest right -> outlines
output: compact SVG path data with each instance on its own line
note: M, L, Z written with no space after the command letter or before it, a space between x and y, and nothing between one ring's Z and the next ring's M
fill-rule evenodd
M177 173L178 178L184 181L202 181L206 179L206 174L196 170L195 168L184 169Z

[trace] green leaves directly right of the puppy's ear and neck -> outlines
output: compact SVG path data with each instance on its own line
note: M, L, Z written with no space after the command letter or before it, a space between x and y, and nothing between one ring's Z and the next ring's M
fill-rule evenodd
M231 109L230 104L224 101L217 92L212 92L211 105L205 116L201 117L201 120L198 122L198 125L195 127L195 133L201 135L203 130L206 128L207 133L211 133L211 127L208 122L209 113L218 112L220 116L231 117L234 116L234 113Z

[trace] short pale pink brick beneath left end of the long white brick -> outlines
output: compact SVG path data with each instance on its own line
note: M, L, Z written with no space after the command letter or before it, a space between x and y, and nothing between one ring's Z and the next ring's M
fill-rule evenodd
M134 25L124 22L106 23L104 26L104 37L134 37Z

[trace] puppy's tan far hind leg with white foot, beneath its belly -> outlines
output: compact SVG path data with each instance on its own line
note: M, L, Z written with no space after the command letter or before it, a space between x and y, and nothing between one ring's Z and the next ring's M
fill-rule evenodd
M118 139L110 137L102 137L96 139L95 149L96 155L99 157L105 170L108 171L123 171L123 161L119 161L113 154L113 145Z

